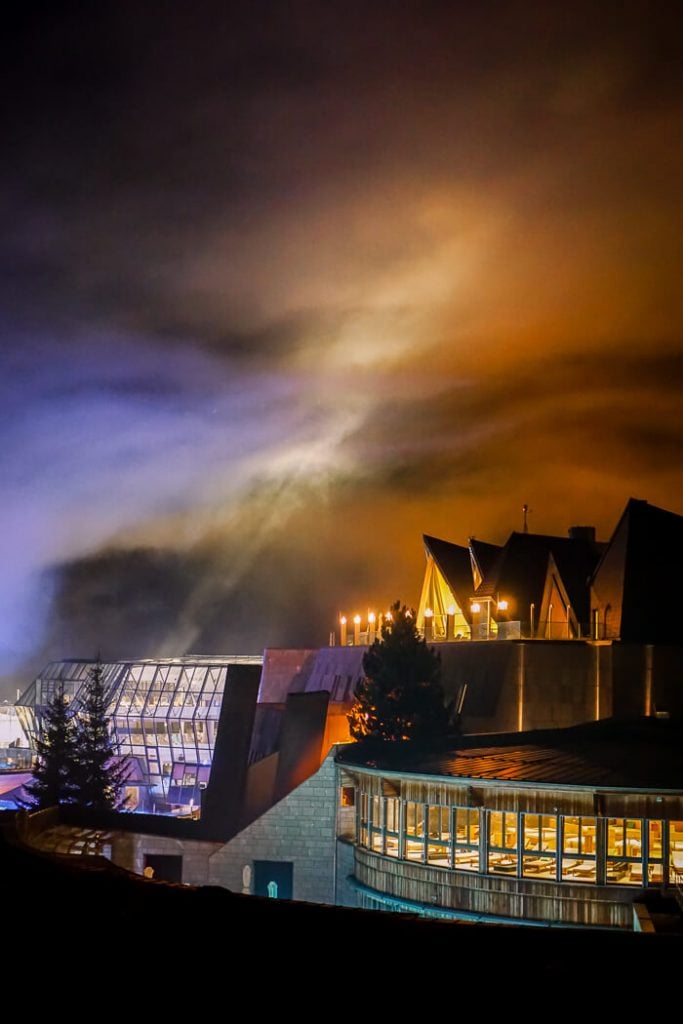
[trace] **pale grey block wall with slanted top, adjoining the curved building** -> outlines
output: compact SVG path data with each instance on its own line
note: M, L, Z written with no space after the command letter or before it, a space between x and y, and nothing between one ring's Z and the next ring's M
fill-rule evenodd
M243 869L254 860L294 864L293 898L334 903L337 819L332 753L318 771L212 854L211 885L243 891Z

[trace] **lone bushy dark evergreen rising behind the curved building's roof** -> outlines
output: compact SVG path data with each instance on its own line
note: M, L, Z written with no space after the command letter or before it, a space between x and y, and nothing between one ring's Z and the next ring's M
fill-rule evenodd
M441 663L400 601L382 624L382 636L362 658L365 678L355 688L348 715L358 740L439 741L449 729Z

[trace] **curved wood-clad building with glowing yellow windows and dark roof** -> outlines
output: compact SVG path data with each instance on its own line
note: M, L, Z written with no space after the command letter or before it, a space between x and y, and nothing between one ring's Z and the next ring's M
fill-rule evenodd
M602 721L456 751L339 749L341 839L364 907L633 928L683 882L683 738Z

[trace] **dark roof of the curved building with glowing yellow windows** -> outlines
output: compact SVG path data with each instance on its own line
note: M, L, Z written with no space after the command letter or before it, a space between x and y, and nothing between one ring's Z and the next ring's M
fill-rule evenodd
M385 771L546 785L683 790L683 723L604 719L567 729L465 736L446 749L340 748L339 760Z

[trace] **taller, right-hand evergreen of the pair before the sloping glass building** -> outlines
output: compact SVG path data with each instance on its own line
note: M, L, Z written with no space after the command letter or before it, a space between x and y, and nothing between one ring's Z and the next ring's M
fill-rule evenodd
M95 810L123 810L122 791L130 775L128 758L119 757L106 715L106 696L99 658L88 670L85 695L78 716L76 802Z

